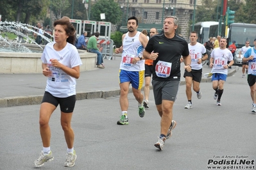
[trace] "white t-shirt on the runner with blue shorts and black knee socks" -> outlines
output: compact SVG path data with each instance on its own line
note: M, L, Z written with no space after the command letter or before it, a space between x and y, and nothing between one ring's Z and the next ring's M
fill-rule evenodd
M228 74L228 69L223 66L228 65L228 61L233 60L232 52L228 49L213 49L210 58L214 58L214 66L211 73Z

